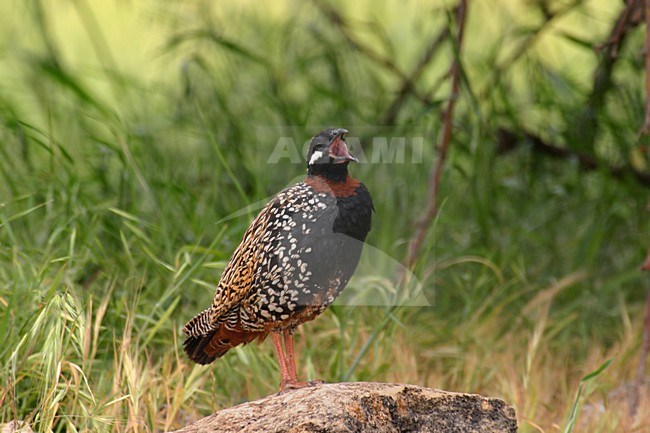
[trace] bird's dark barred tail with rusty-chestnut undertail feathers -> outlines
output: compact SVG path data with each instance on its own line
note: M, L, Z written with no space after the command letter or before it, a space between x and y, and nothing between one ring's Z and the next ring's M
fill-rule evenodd
M183 332L187 335L183 350L197 364L210 364L233 347L265 336L265 334L246 332L241 328L228 329L225 324L212 329L209 325L209 314L210 310L202 311L183 328Z

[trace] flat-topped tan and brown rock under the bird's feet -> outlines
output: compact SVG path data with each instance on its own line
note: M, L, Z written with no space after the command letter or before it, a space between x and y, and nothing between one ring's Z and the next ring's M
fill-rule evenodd
M177 433L516 432L502 400L392 383L335 383L223 409Z

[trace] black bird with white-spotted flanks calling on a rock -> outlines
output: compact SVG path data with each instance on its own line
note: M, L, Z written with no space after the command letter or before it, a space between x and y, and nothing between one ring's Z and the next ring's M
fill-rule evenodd
M368 188L348 173L359 162L348 130L313 136L307 175L275 195L253 219L227 263L212 304L183 328L183 349L210 364L230 349L271 336L280 392L314 386L298 380L296 328L330 306L355 272L374 206Z

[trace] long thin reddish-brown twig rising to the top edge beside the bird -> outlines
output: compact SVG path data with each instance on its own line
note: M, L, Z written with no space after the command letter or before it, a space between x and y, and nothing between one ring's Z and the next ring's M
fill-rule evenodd
M406 268L412 269L417 261L422 242L427 234L431 222L438 212L438 191L440 190L440 181L442 179L442 171L447 159L447 152L451 145L454 108L456 107L456 100L458 99L458 92L460 90L461 70L460 70L460 53L463 42L463 34L465 30L465 20L467 17L467 0L460 0L456 7L456 25L458 33L456 35L456 56L451 66L451 95L447 103L447 109L443 113L443 129L440 146L438 146L438 159L436 160L435 168L431 177L429 178L429 197L427 200L427 209L424 216L419 221L415 234L409 242L408 256L406 259Z

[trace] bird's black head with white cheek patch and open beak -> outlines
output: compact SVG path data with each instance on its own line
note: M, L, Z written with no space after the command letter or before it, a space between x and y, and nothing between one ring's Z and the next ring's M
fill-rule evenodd
M350 161L359 162L348 150L345 142L347 132L343 128L328 128L311 139L307 153L309 175L345 180Z

